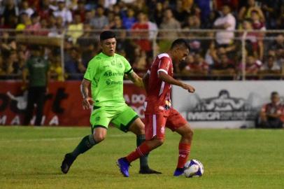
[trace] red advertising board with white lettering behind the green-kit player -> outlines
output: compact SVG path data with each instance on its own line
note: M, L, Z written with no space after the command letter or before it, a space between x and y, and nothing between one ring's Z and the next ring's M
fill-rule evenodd
M143 118L144 90L127 83L124 93L127 104ZM21 125L26 106L27 92L21 90L19 81L0 81L0 125ZM43 125L87 126L89 118L90 111L82 107L80 81L50 83L45 95Z

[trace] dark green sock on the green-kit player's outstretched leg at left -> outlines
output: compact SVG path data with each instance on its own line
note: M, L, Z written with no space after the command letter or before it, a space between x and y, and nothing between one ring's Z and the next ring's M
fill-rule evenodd
M71 153L74 157L77 157L81 153L85 153L85 151L90 150L92 146L97 144L97 142L94 140L94 136L92 134L85 136L82 141L78 144L78 146L74 149L74 151Z

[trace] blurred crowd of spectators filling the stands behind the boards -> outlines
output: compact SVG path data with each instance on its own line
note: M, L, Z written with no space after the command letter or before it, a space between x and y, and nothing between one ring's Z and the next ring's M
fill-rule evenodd
M284 0L0 0L0 79L19 76L30 56L17 34L64 34L64 57L48 43L42 55L55 80L80 79L104 29L117 32L117 52L140 75L178 37L191 48L174 69L183 79L241 79L244 72L247 79L280 79L284 71L284 33L264 32L284 29Z

